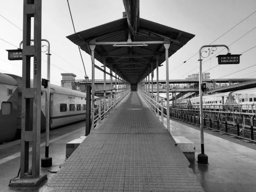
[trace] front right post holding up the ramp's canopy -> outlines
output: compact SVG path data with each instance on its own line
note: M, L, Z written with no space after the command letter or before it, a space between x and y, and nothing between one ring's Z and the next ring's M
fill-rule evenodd
M167 130L170 131L170 106L169 106L169 53L168 49L170 47L170 43L165 43L164 47L166 49L166 116L167 116Z

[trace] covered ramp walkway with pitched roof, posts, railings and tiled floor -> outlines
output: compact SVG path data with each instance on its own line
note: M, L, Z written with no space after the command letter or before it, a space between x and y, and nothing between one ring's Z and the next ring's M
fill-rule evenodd
M132 30L131 26L136 27ZM88 137L48 186L59 186L57 180L61 179L72 182L63 187L70 190L204 191L170 134L169 108L164 114L164 106L156 102L159 96L150 93L153 87L145 86L150 74L153 82L154 70L159 83L158 68L166 62L169 87L168 58L194 36L142 18L133 25L126 16L67 36L91 55L93 120ZM104 72L104 96L97 99L95 69ZM111 76L108 96L106 74ZM166 91L169 95L169 89ZM72 170L72 178L68 170Z

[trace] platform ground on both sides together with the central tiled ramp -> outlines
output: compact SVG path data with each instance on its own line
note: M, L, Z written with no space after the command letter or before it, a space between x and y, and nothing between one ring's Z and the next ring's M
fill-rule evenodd
M48 180L36 188L8 187L20 166L20 141L0 145L0 191L255 191L256 145L205 130L209 164L201 165L198 127L170 120L170 134L159 122L132 92L66 161L66 143L84 135L85 123L50 131L53 166L41 168ZM195 143L195 160L173 150L176 136ZM44 133L41 137L44 157Z

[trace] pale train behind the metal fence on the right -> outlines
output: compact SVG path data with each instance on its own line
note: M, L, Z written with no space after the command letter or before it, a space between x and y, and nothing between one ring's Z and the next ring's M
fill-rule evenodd
M233 106L234 110L255 113L256 106L253 106L253 104L256 105L256 88L203 96L204 109L206 108L206 109L215 109L215 110L220 110L220 109L230 110L231 105L234 105ZM175 102L174 102L174 105L175 105ZM177 108L197 109L199 108L199 105L200 105L199 97L178 99L176 101ZM165 102L165 106L166 106L166 102ZM253 106L253 109L252 109L252 106ZM172 101L170 101L170 107L172 107Z

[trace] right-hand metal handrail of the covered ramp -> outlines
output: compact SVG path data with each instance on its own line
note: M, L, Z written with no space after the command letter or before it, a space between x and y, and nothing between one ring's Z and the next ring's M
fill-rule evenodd
M161 122L164 125L167 125L167 123L170 123L170 122L167 122L166 120L167 116L166 116L166 113L164 113L164 111L167 110L166 106L163 105L165 98L148 93L143 90L139 90L139 92L143 97L143 99L145 100L145 102L149 105L149 107L153 109L154 113L156 113L159 117L161 116Z

